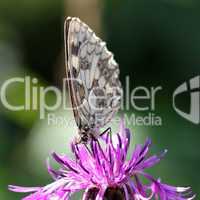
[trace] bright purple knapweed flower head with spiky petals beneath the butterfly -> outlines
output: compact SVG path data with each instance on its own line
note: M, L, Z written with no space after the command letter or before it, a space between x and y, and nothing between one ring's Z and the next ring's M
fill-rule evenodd
M31 193L23 200L68 200L73 193L84 190L82 200L191 200L194 195L189 187L174 187L155 179L145 170L160 162L160 155L148 157L151 140L138 144L130 160L127 152L130 145L130 130L120 124L116 137L110 131L90 145L72 144L75 158L53 153L60 164L55 170L48 165L54 182L43 187L19 187L10 185L14 192ZM141 178L147 179L145 184ZM142 178L142 179L143 179Z

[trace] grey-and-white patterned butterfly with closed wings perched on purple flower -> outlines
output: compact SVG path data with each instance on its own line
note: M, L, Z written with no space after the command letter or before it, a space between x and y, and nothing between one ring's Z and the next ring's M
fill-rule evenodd
M120 108L119 66L106 43L79 18L66 19L64 39L68 89L80 135L77 143L87 143L100 136L99 129Z

